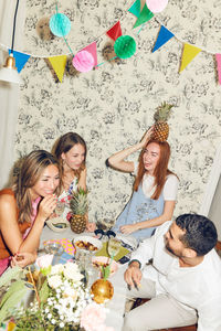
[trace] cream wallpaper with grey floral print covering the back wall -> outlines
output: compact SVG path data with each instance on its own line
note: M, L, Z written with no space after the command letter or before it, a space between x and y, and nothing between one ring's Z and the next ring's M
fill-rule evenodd
M198 212L215 150L221 141L221 97L211 52L221 53L221 1L169 0L167 9L143 29L127 10L134 1L65 0L59 11L72 21L67 35L73 53L97 42L97 70L77 73L67 61L63 83L57 83L45 57L69 54L62 39L46 30L55 1L27 1L25 50L30 57L21 72L15 154L32 149L51 150L55 139L76 131L88 147L90 220L113 223L131 194L134 178L109 169L105 160L137 142L154 122L161 102L172 103L169 119L170 169L179 179L175 216ZM113 57L105 35L118 20L123 34L131 35L136 54ZM176 38L151 53L160 22ZM182 41L208 50L179 74ZM138 153L130 156L136 160Z

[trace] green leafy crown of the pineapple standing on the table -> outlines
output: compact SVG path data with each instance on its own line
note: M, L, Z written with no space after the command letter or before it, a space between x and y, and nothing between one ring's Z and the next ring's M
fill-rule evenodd
M85 215L88 210L87 190L82 188L77 189L76 192L72 192L70 200L70 207L72 213L75 215Z

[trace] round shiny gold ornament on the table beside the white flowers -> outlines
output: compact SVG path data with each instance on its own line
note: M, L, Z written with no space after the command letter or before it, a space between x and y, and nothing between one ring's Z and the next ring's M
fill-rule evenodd
M114 296L114 287L109 280L97 279L91 287L93 300L97 303L104 303Z

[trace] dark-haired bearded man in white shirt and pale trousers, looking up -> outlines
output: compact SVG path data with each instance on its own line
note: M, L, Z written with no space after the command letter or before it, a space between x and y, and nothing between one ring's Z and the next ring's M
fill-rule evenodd
M198 331L221 331L217 239L213 223L197 214L166 222L145 239L133 253L125 280L129 297L151 300L126 314L123 330L158 330L197 322Z

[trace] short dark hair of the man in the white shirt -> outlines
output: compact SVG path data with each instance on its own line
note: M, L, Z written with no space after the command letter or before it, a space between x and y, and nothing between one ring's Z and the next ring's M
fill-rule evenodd
M218 233L209 218L197 214L183 214L177 217L176 224L186 231L180 241L198 256L206 255L215 246Z

